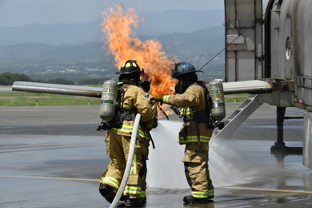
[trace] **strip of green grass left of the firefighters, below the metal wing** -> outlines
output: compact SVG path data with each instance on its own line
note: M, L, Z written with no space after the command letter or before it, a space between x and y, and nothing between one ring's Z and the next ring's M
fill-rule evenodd
M33 106L33 105L100 105L100 98L48 94L48 93L0 93L0 106Z

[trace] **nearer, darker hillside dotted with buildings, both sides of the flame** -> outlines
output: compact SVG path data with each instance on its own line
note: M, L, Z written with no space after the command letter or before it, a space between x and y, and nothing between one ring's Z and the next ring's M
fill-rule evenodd
M200 69L224 48L224 26L211 27L189 33L165 34L157 37L139 36L144 41L157 38L163 51L177 56L179 61L190 62ZM87 78L116 78L118 70L113 57L105 56L102 42L85 42L78 45L47 45L22 43L0 46L0 73L24 73L32 79L59 77L78 82ZM224 52L207 64L200 73L201 79L224 77Z

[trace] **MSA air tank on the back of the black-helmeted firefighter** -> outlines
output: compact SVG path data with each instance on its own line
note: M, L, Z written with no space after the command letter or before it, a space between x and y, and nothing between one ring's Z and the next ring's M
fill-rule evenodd
M114 80L107 80L103 84L100 117L109 122L115 117L118 85Z

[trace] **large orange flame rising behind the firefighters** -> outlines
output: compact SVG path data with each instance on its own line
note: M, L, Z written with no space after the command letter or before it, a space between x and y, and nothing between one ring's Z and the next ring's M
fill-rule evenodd
M168 57L157 39L140 41L136 37L134 30L140 21L144 22L144 18L139 19L133 8L126 9L122 4L115 4L115 8L107 9L103 12L101 23L104 32L102 40L105 41L103 48L107 55L115 57L115 66L118 69L127 60L136 60L152 79L150 94L173 94L170 87L174 86L174 81L169 80L170 69L178 60L176 57ZM172 114L171 111L168 113ZM159 111L158 115L161 117Z

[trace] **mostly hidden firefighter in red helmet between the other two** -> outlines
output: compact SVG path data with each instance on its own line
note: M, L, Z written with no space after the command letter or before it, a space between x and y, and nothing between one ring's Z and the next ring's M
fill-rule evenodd
M151 79L149 79L149 75L146 72L143 72L141 74L140 77L140 88L143 89L143 91L146 93L146 96L148 98L152 98L153 95L149 94L149 90L150 90L150 86L151 86ZM154 120L153 122L153 126L152 128L156 128L157 127L157 102L156 101L151 101L151 106L152 106L152 120ZM149 159L149 145L150 145L150 141L152 142L153 148L155 148L154 146L154 142L153 139L151 137L151 135L149 134L150 139L146 139L145 140L145 146L147 148L147 152L145 154L146 160ZM147 169L146 172L144 174L144 177L142 178L142 189L141 189L141 200L144 202L146 201L146 196L145 196L145 191L146 191L146 174L147 174Z

